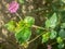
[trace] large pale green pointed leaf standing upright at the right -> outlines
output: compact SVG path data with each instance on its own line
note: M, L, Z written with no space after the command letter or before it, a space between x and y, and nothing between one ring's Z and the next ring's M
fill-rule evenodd
M57 17L56 13L54 13L49 20L46 21L46 27L54 28L56 26Z

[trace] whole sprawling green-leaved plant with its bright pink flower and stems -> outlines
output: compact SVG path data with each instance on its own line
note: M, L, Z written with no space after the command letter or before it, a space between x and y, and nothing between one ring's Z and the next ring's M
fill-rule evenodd
M18 3L20 2L20 3ZM16 13L20 5L24 3L24 0L18 0L17 1L12 1L9 3L9 12L10 13ZM65 47L64 39L65 39L65 22L61 23L61 12L63 10L55 10L54 8L56 5L52 5L52 14L47 16L47 20L43 22L44 26L37 26L35 25L35 17L32 16L25 16L24 20L20 17L18 22L15 21L10 21L9 23L5 24L5 27L10 30L13 32L15 35L15 38L17 42L25 48L32 41L35 41L37 38L41 37L41 42L40 44L47 44L48 49L52 49L52 45L57 44L57 47L60 49ZM58 13L60 12L60 13ZM58 28L60 27L60 28ZM30 40L31 37L31 28L36 28L36 34L38 35ZM58 28L58 29L56 29ZM50 42L50 40L55 40ZM49 44L50 42L50 44Z

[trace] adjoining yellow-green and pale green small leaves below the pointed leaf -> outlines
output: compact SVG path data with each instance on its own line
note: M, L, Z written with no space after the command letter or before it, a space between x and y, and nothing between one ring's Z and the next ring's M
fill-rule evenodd
M56 32L55 30L51 30L49 33L46 33L42 35L42 42L47 42L49 39L54 39L56 38Z

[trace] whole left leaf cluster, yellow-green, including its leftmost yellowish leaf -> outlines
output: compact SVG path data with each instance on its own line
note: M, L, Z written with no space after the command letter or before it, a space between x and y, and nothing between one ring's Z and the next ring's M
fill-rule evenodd
M8 27L9 30L14 30L16 40L20 44L24 44L29 40L31 36L30 27L34 24L35 24L34 17L26 16L24 21L21 20L18 23L10 21L8 24L5 24L5 27Z

